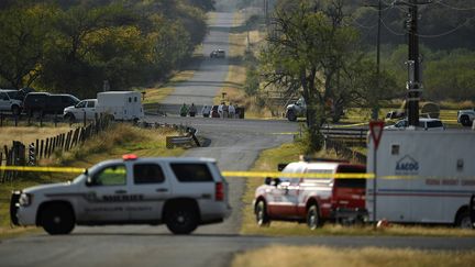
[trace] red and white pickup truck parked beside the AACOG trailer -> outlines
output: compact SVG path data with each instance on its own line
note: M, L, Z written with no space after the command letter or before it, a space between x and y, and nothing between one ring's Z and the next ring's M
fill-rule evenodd
M259 226L270 221L306 222L314 230L325 221L355 222L367 216L366 180L335 174L365 174L364 165L340 162L297 162L288 164L283 177L266 178L255 191L254 213ZM321 174L323 178L286 178L285 174Z

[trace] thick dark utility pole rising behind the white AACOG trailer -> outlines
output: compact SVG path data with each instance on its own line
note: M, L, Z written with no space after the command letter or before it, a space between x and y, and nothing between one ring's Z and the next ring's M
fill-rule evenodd
M407 114L410 126L419 125L419 100L422 91L420 81L420 57L418 36L418 0L410 0L407 20L409 40L408 81L407 81Z

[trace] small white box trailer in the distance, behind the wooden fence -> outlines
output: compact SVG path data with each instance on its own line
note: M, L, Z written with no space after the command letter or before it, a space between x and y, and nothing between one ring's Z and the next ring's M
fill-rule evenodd
M144 118L141 93L136 91L107 91L97 94L97 113L113 115L114 120L140 120Z

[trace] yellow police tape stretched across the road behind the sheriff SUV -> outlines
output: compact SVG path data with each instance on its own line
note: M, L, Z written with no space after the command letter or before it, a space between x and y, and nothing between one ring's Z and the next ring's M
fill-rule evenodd
M5 171L31 171L31 173L68 173L82 174L86 168L76 167L36 167L36 166L0 166L0 170ZM245 178L266 178L266 177L285 177L285 178L307 178L307 179L373 179L374 174L288 174L280 171L221 171L224 177L245 177ZM413 179L417 176L378 176L380 179Z

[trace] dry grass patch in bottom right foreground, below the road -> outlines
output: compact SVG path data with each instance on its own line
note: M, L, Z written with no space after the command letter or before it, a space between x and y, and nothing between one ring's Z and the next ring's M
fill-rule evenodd
M330 248L324 246L274 245L238 255L233 267L291 267L291 266L349 266L349 267L459 267L474 266L475 251L418 251L409 248Z

